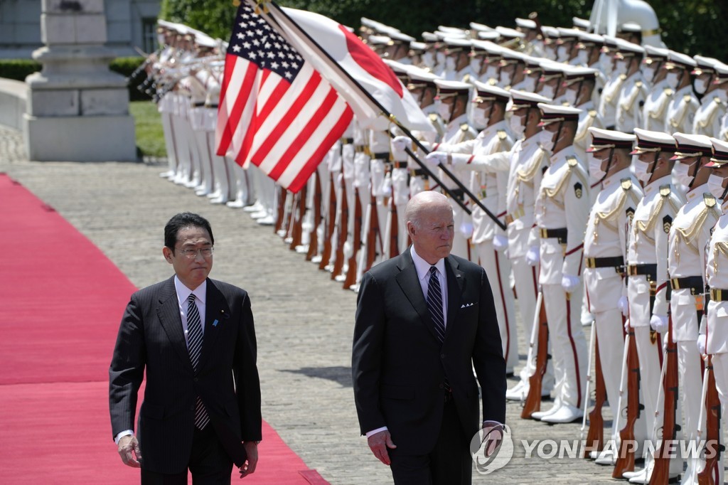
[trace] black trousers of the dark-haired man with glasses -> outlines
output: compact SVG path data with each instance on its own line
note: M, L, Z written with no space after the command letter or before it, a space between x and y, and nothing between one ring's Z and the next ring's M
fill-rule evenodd
M187 464L194 485L229 485L232 460L223 448L213 425L194 430L192 451ZM141 469L142 485L187 485L187 470L182 473L157 473Z

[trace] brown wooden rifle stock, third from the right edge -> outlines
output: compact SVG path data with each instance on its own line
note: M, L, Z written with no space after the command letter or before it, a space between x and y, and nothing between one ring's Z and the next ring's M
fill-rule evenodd
M620 448L617 450L617 462L614 463L614 470L612 470L612 478L620 479L622 473L635 469L635 450L633 446L628 449L627 443L634 443L635 423L643 407L639 402L640 376L637 342L635 341L635 331L631 326L627 338L629 339L627 347L627 417L625 427L620 430Z

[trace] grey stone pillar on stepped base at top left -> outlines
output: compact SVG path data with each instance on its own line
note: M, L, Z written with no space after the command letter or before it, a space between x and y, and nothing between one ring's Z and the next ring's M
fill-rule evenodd
M25 149L31 160L135 160L124 76L108 70L103 0L42 0L43 65L25 79Z

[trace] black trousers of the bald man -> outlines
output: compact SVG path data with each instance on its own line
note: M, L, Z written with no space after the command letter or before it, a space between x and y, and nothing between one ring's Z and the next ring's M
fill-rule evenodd
M402 454L388 449L395 485L470 485L472 457L470 438L460 426L455 401L445 403L443 424L430 454Z

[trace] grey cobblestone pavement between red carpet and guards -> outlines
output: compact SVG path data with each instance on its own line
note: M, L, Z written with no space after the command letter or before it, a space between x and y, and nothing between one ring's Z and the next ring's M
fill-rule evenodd
M58 210L138 287L171 275L162 259L167 219L182 210L207 217L216 236L212 276L246 288L253 301L264 419L331 484L391 483L388 468L358 433L350 379L355 293L341 290L328 273L289 251L270 227L258 226L244 211L210 205L159 178L163 163L24 158L20 135L0 127L0 172ZM520 348L525 352L523 342ZM521 440L578 440L581 423L546 425L520 419L520 411L518 403L509 403L513 460L490 476L475 473L474 483L614 483L612 468L588 460L524 457ZM550 452L550 445L542 449ZM108 452L115 451L109 443ZM274 465L261 457L260 466Z

